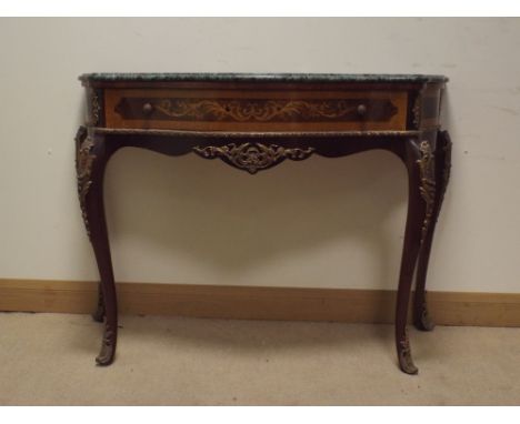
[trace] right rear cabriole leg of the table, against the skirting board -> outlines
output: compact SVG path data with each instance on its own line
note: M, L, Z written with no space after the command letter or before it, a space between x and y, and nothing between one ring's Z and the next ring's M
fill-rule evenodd
M428 313L426 301L426 279L428 274L428 262L430 260L431 243L433 241L433 232L436 230L437 219L442 206L444 192L448 186L451 169L451 140L448 131L441 131L437 137L436 144L436 196L433 202L433 214L426 238L421 244L419 252L417 280L416 280L416 297L413 300L413 324L422 331L433 330L433 321Z

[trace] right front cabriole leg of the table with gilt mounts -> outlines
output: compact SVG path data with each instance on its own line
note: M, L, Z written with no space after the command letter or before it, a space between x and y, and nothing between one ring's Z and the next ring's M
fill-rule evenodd
M428 140L408 140L406 164L409 179L409 201L404 245L396 307L396 346L399 365L407 374L417 374L407 332L408 306L421 241L429 230L436 195L434 157Z

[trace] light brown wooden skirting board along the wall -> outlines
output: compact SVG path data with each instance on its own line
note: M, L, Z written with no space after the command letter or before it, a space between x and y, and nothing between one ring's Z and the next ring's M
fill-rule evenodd
M383 290L118 283L123 314L392 323ZM520 326L520 293L429 292L440 325ZM97 283L0 279L0 311L91 313Z

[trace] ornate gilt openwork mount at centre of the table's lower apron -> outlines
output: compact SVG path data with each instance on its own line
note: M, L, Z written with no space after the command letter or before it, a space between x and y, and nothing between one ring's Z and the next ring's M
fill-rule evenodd
M277 144L251 142L242 144L230 143L221 147L194 147L193 151L206 159L220 158L236 168L254 174L258 171L271 168L286 159L291 159L293 161L307 159L312 154L314 149L288 149Z

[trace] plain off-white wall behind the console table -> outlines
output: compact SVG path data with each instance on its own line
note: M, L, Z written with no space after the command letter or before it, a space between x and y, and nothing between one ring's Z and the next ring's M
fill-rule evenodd
M453 170L429 289L520 292L518 19L1 19L0 51L0 277L97 280L80 73L442 73ZM407 189L389 153L251 176L127 149L106 188L118 281L397 287Z

